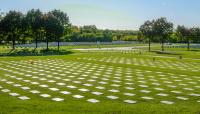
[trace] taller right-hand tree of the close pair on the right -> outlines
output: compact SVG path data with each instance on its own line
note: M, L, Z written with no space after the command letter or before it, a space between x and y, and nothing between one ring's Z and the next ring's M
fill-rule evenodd
M164 51L164 43L173 33L173 23L168 22L166 18L159 18L154 23L154 30L156 35L161 38L162 51Z

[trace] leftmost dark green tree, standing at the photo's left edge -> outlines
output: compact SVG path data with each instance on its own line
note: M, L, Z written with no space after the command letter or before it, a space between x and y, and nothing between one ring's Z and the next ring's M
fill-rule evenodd
M10 11L1 20L3 31L10 36L13 44L13 49L15 49L15 41L19 38L19 33L21 31L23 14L17 11Z

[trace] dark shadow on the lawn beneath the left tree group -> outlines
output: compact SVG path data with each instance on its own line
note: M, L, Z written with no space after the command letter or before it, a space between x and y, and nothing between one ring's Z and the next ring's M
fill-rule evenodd
M11 50L8 53L2 53L0 56L49 56L49 55L69 55L73 54L71 51L66 50L56 50L56 49L43 49L43 50L37 50L37 49L20 49L20 50Z

